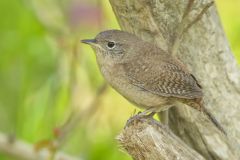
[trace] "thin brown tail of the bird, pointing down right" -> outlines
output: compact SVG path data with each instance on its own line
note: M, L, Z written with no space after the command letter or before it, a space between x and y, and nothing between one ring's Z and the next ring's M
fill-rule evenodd
M194 102L188 102L188 105L192 106L193 108L203 112L209 120L225 135L227 135L226 131L220 125L220 123L216 120L216 118L204 107L202 99L196 99Z

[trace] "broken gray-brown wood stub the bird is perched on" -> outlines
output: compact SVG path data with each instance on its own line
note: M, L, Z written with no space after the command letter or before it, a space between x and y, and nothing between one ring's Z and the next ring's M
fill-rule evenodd
M164 125L153 119L129 119L117 137L133 159L138 160L204 160Z

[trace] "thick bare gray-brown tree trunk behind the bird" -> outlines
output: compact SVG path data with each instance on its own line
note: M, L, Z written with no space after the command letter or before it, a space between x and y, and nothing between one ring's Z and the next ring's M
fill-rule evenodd
M123 30L176 52L174 55L203 86L206 108L221 123L227 137L199 113L183 106L170 109L174 133L206 159L240 159L240 71L215 5L210 0L110 2ZM179 38L183 30L186 32ZM178 42L179 47L175 45Z

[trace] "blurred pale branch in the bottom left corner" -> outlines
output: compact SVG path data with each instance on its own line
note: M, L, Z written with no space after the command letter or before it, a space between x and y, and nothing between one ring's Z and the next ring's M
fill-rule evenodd
M0 133L0 153L24 160L48 160L50 158L53 160L80 160L80 158L75 158L62 152L53 153L48 149L37 151L33 145L2 133Z

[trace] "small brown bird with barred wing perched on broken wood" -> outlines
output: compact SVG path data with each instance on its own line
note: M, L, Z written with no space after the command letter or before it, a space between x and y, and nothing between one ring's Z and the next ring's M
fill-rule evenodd
M130 102L154 113L183 103L205 113L224 132L204 108L196 78L171 54L119 30L103 31L82 42L95 50L107 82Z

